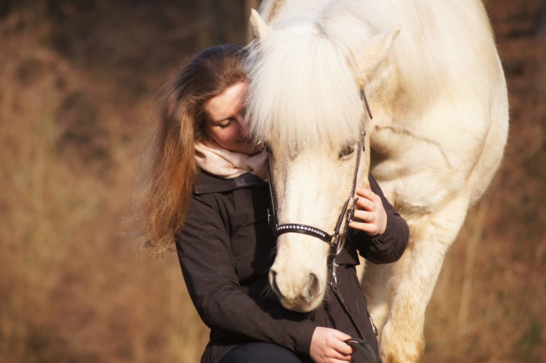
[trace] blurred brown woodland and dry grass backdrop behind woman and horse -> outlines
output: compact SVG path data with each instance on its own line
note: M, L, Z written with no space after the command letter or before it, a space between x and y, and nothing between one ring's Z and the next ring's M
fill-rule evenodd
M0 0L0 362L197 362L175 253L123 237L159 87L259 0ZM450 248L423 362L546 361L546 1L486 1L505 160ZM461 115L464 116L464 115Z

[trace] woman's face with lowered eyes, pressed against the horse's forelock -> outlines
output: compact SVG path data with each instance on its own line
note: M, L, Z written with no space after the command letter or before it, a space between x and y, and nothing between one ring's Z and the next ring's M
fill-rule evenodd
M260 148L248 139L248 130L242 124L247 84L244 81L225 89L203 105L205 131L224 149L242 154L256 154Z

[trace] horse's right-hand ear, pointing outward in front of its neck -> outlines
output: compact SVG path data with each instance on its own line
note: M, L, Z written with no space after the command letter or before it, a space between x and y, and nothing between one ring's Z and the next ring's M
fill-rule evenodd
M365 83L365 80L371 77L377 71L379 65L387 58L394 39L396 39L399 32L400 25L395 25L363 44L361 51L356 55L357 59L353 60L357 69L357 77L361 83ZM363 86L363 84L360 86Z

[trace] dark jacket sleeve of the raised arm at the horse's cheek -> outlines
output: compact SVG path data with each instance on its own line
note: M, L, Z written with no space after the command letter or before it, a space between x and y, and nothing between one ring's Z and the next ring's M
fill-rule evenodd
M374 264L389 264L400 259L410 239L410 229L379 188L379 184L370 174L371 190L381 197L387 212L387 229L382 235L370 237L364 231L351 230L349 236L361 256Z

